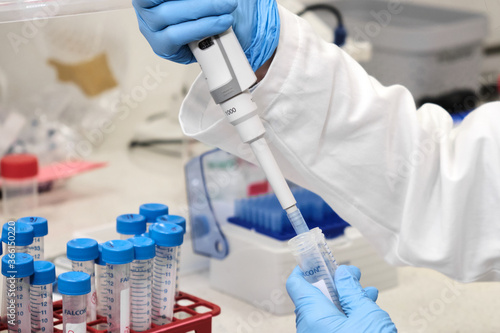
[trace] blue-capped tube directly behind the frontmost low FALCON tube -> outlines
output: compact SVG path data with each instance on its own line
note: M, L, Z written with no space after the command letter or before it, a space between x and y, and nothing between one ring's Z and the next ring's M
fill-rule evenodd
M95 259L99 257L97 241L90 238L76 238L66 244L66 255L71 260L74 272L90 276L90 292L87 295L87 320L96 320L97 295L95 291Z

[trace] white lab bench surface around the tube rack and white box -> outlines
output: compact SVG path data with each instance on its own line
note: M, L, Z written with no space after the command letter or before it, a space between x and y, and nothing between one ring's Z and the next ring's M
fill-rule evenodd
M47 255L64 253L73 232L112 223L148 201L185 213L180 158L145 150L97 151L107 168L81 175L41 198L39 213L49 220ZM459 284L429 269L398 269L399 285L381 292L378 304L400 332L499 332L500 283ZM213 332L293 332L294 315L274 316L209 286L208 272L181 276L181 289L219 305Z

